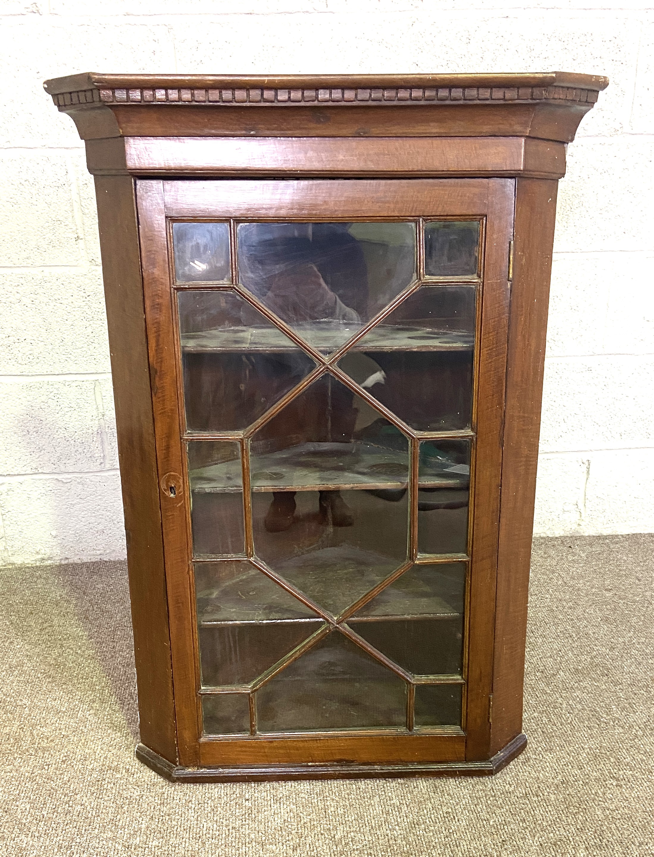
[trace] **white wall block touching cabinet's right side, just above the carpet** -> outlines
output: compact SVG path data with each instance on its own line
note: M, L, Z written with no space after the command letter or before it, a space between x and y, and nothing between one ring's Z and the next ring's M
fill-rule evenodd
M564 536L579 528L587 471L581 455L539 456L534 536Z

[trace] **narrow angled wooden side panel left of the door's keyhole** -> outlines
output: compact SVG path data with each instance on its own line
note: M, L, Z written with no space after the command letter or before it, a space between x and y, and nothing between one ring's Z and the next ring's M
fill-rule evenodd
M177 761L159 480L134 182L96 177L141 741Z

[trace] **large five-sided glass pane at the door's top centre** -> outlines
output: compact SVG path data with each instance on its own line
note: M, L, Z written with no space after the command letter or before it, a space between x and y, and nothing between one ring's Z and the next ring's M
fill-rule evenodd
M252 223L237 231L243 285L323 353L416 278L410 223Z

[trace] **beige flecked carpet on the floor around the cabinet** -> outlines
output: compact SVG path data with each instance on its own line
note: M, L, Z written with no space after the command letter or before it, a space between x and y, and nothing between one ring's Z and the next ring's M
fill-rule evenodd
M0 854L654 854L654 535L534 548L494 778L172 785L137 762L122 563L0 570Z

